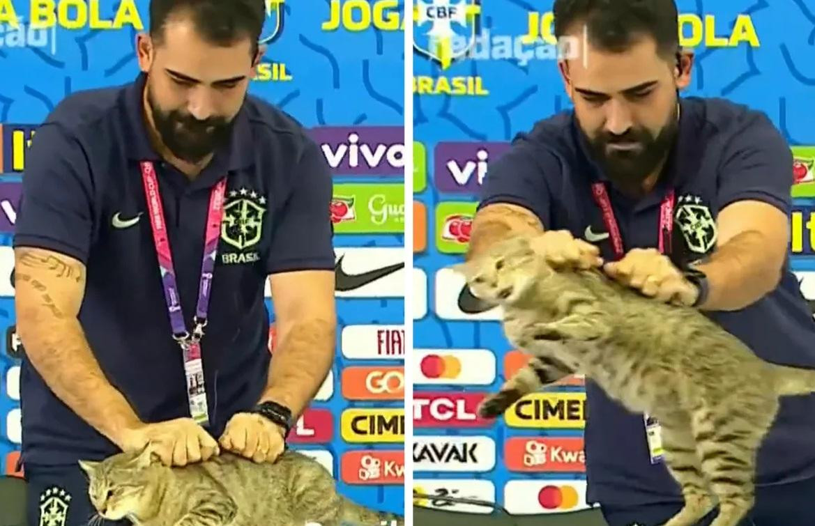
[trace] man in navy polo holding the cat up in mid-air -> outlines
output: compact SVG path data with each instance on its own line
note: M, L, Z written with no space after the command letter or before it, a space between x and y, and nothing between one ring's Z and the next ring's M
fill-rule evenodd
M490 165L468 258L530 235L549 261L606 261L612 278L695 305L769 362L815 367L815 322L786 263L792 159L778 131L747 107L679 98L693 56L679 48L672 0L557 0L554 15L557 37L588 34L587 49L558 62L574 110ZM682 492L644 415L591 381L586 390L588 502L611 526L665 524ZM815 524L815 397L782 400L757 471L743 525Z

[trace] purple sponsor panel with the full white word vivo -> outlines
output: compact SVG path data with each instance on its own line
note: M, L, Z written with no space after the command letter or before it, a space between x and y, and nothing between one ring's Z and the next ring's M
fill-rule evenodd
M310 134L335 175L404 177L401 126L322 126L312 128Z

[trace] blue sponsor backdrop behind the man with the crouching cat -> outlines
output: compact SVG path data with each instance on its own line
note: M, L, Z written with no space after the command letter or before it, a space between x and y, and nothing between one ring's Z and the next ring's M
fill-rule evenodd
M0 1L0 471L20 444L11 236L26 149L67 94L130 82L148 0ZM250 93L311 129L336 174L337 360L293 434L350 498L403 510L403 7L267 0ZM32 28L32 23L46 28ZM34 138L33 140L36 140ZM376 271L376 272L374 272ZM340 275L342 274L342 275ZM271 303L269 304L271 312ZM179 358L180 359L180 358Z

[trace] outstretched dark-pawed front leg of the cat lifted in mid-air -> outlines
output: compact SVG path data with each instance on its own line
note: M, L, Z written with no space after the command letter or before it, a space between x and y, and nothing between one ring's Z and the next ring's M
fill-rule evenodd
M484 419L494 419L527 394L573 372L569 366L553 357L533 356L526 366L504 382L498 392L482 400L478 405L478 414Z

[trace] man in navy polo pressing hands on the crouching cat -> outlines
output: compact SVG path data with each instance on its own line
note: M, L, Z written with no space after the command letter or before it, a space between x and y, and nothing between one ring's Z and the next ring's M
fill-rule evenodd
M166 465L273 462L333 361L328 164L247 96L264 2L150 9L139 78L65 99L28 157L15 307L31 524L95 513L80 459L149 445Z

